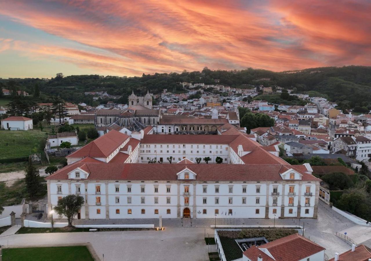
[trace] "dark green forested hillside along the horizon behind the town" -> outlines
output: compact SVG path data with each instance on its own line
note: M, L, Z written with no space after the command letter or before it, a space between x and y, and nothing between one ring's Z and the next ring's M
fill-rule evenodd
M270 78L270 81L256 81L261 78ZM277 85L311 96L322 94L330 101L337 102L342 109L356 106L371 108L371 67L367 66L309 68L286 72L252 68L241 71L211 71L205 67L201 72L143 74L141 77L58 75L50 81L38 78L0 79L0 85L3 88L22 89L32 94L35 84L38 84L41 91L40 101L47 102L50 96L59 95L66 101L89 104L91 98L84 96L83 92L107 91L112 95L123 95L121 102L125 102L132 89L136 94L145 94L147 89L152 93L159 93L163 89L184 92L179 82L215 84L216 79L219 80L219 84L231 87Z

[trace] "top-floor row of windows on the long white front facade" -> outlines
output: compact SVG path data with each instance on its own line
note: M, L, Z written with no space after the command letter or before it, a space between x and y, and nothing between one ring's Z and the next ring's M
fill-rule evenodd
M76 172L77 175L78 172ZM189 179L189 173L184 174L184 179ZM242 186L242 193L247 192L247 186ZM256 193L260 193L260 186L256 186L255 188ZM295 195L295 186L289 186L289 195ZM62 186L59 185L57 186L57 192L61 193L62 192ZM76 186L76 192L81 192L80 186ZM120 186L116 185L115 186L115 192L120 192ZM131 192L131 185L127 185L127 192ZM158 193L158 185L154 185L154 192ZM166 186L166 192L170 193L171 192L171 186L168 185ZM188 193L189 192L189 186L184 186L184 192ZM202 187L202 192L207 193L207 185L204 185ZM233 193L233 185L228 186L228 192ZM278 192L278 187L273 187L273 193ZM306 186L305 188L305 193L310 193L311 192L311 186ZM95 186L95 193L100 194L101 193L101 186L97 185ZM141 185L141 193L145 193L145 185ZM215 193L219 193L219 185L215 186Z

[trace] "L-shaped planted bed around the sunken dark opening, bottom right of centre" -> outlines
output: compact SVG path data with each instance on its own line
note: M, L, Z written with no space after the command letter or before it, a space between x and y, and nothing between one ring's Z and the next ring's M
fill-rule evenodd
M235 239L257 238L264 236L269 242L298 233L296 229L242 229L240 231L218 231L220 243L223 247L226 260L242 258L242 251Z

